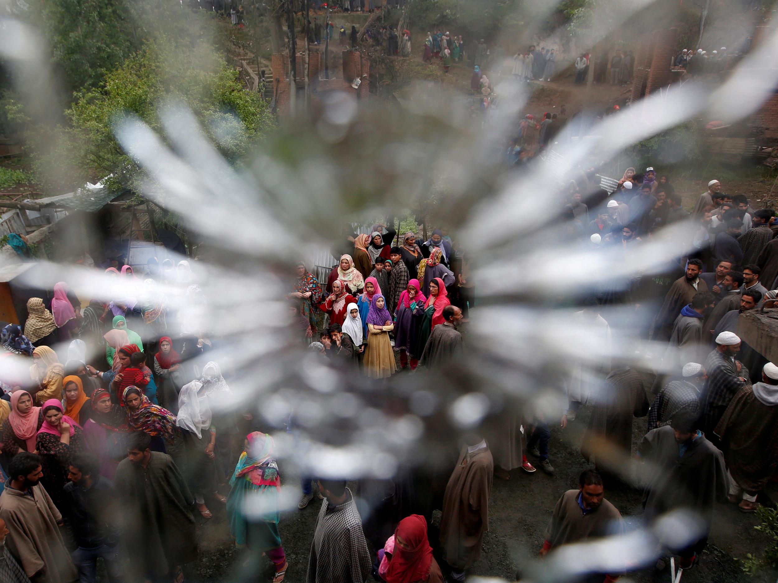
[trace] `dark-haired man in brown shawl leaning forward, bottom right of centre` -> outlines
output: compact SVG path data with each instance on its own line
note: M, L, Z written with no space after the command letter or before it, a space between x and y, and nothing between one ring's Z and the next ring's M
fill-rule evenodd
M545 529L540 556L545 557L548 551L562 545L623 532L621 513L605 500L602 477L594 470L584 470L578 478L578 489L567 490L557 501L551 522ZM600 581L603 579L615 581L615 576L603 574Z

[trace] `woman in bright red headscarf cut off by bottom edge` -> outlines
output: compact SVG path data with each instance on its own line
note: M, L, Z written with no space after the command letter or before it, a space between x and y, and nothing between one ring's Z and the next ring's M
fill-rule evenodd
M403 518L384 546L379 574L386 583L443 583L440 565L427 540L427 520L413 514Z

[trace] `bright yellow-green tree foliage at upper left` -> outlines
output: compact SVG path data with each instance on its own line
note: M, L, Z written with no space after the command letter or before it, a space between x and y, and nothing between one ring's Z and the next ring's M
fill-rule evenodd
M111 175L114 189L140 186L142 174L114 137L114 123L123 114L137 116L163 135L159 106L176 99L188 106L219 144L237 161L252 143L275 124L258 94L240 84L237 70L213 59L212 67L180 51L147 47L107 75L99 89L79 92L65 111L71 122L56 132L54 159L36 159L39 169L51 164L72 166L71 186ZM48 185L54 188L54 185Z

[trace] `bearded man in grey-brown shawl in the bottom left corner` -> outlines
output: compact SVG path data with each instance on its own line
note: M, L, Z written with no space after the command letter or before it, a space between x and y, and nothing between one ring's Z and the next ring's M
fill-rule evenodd
M43 475L39 456L17 453L0 495L0 518L9 550L33 583L67 583L75 580L75 567L59 532L62 517L40 484Z

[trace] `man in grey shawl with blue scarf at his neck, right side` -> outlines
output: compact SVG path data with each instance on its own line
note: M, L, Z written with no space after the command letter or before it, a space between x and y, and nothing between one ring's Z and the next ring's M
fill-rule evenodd
M669 372L677 373L685 363L703 360L703 319L714 305L716 298L713 294L697 292L692 302L681 309L673 323L670 344L662 359Z

